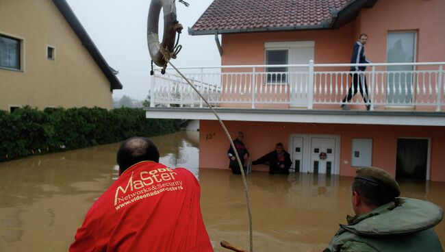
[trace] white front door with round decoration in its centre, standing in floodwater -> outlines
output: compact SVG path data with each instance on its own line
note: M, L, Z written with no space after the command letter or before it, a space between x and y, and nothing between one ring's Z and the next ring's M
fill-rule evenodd
M335 164L335 138L311 139L310 172L333 174Z

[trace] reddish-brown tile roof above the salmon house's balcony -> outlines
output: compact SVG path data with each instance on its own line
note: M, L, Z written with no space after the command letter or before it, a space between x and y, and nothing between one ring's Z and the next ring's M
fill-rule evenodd
M190 29L221 31L275 27L312 27L329 22L355 0L214 0Z

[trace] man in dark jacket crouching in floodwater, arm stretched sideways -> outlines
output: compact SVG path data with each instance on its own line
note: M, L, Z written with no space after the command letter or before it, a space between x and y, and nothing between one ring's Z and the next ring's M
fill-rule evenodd
M283 150L283 144L281 142L275 145L275 151L259 157L253 161L252 164L264 164L267 162L269 163L270 174L289 174L289 168L292 164L290 155Z

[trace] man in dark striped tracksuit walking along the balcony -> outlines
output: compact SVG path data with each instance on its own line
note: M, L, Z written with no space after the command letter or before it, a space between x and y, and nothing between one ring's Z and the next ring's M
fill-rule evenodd
M365 47L366 42L368 41L367 34L360 34L359 40L354 43L353 47L353 55L351 56L351 64L369 64L371 63L366 59L365 56ZM370 100L368 96L368 86L366 85L366 77L364 71L366 70L366 66L351 66L351 72L349 75L352 77L351 87L348 90L348 95L344 97L342 101L343 110L349 110L348 102L351 101L353 96L357 94L358 89L360 89L361 96L363 97L363 101L366 104L366 110L370 110Z

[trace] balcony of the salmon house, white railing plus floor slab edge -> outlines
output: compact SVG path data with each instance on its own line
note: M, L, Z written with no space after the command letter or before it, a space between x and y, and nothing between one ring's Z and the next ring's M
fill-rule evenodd
M445 126L445 62L298 64L179 68L223 120ZM357 90L340 108L353 77L367 66L370 110ZM174 69L155 71L147 118L214 120ZM355 92L355 90L353 90Z

